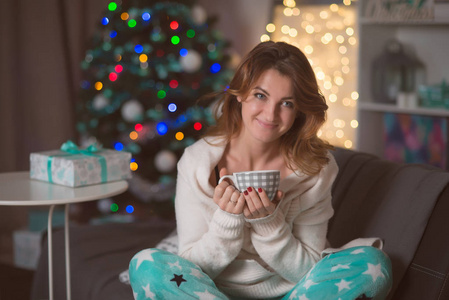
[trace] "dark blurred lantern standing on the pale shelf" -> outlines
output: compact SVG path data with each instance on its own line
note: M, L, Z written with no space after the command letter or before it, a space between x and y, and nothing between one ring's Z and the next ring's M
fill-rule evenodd
M408 56L401 43L390 40L372 64L372 95L376 102L396 103L401 93L415 93L424 81L423 64Z

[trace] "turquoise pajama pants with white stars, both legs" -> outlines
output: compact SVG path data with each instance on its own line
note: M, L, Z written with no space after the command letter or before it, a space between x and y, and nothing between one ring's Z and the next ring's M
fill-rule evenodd
M146 249L129 264L134 299L232 299L197 265L167 251ZM354 247L321 259L282 300L382 300L392 285L391 262L377 248Z

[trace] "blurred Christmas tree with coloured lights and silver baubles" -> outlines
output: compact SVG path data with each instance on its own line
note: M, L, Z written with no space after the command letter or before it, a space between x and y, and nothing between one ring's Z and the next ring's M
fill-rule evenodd
M171 202L178 159L213 122L210 101L197 100L232 76L214 21L193 0L114 1L99 20L81 64L77 130L84 145L133 154L136 200Z

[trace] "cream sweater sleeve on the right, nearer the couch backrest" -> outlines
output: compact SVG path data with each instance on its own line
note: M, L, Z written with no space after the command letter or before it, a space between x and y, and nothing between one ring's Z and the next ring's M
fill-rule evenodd
M293 283L299 282L313 267L325 248L327 224L333 215L331 188L337 172L338 167L330 155L330 163L304 183L308 186L295 196L299 199L293 199L289 210L297 209L299 214L293 219L292 226L287 224L279 206L268 217L249 220L252 223L251 240L260 257Z

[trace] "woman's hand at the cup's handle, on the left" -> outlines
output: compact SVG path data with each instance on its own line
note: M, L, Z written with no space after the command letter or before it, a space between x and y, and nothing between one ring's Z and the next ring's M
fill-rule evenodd
M227 172L226 168L221 169L220 177L227 175ZM243 194L226 180L215 187L214 202L222 210L237 215L243 213L243 207L245 206Z

